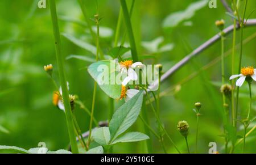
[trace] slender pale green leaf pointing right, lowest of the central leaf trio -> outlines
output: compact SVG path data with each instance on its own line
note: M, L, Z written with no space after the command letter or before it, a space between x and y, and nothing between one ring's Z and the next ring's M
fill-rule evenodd
M115 143L137 142L146 139L149 139L149 137L146 134L140 132L129 132L119 138L116 138L111 144L113 145Z

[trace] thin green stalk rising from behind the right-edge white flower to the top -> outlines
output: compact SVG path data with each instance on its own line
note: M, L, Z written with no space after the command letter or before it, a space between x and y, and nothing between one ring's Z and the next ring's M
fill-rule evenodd
M242 66L242 53L243 53L243 27L244 27L244 22L245 22L245 12L246 12L246 7L247 7L247 0L245 0L245 8L243 9L243 15L242 15L242 22L240 23L241 27L241 44L240 44L240 60L239 60L239 65L238 65L238 73L240 73L241 66ZM237 7L236 7L237 8ZM238 12L237 12L238 15ZM235 114L235 119L237 119L237 112L238 112L238 98L239 98L239 89L240 87L237 87L237 102L236 102L236 114ZM235 121L237 125L237 120Z

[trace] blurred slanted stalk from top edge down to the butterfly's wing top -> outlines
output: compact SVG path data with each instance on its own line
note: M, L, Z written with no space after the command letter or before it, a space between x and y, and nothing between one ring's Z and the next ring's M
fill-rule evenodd
M85 21L86 21L87 26L89 28L90 35L93 37L94 43L97 45L97 36L93 32L92 24L91 24L92 21L89 19L88 15L86 13L84 0L77 0L77 1L79 2L80 8L82 10L82 14L84 15ZM96 9L98 10L97 2L96 2ZM102 52L100 46L99 46L99 53L100 53L101 60L104 60L105 59L104 53Z

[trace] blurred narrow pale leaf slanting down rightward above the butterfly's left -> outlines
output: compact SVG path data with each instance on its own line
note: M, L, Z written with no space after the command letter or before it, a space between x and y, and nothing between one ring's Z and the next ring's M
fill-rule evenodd
M94 55L96 55L96 46L93 46L93 45L91 45L91 44L88 44L88 43L86 43L85 41L82 41L82 40L80 40L80 39L77 39L76 37L74 37L74 36L71 36L71 35L69 35L69 34L67 34L67 33L62 33L62 35L64 36L64 37L66 37L69 41L71 41L73 44L75 44L75 45L77 45L77 46L79 46L80 48L83 48L83 49L85 49L85 50L87 50L88 52L90 52L90 53L92 53L92 54L94 54Z

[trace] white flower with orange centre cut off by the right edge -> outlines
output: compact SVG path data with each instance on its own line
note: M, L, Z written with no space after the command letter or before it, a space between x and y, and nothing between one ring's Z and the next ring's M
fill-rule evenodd
M234 79L237 78L237 82L236 82L236 86L241 87L243 82L245 82L246 77L251 77L254 81L256 81L256 69L254 69L253 67L249 66L249 67L242 67L241 69L241 74L235 74L232 75L229 79Z

